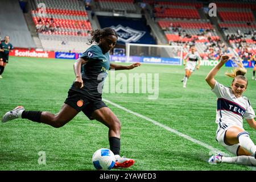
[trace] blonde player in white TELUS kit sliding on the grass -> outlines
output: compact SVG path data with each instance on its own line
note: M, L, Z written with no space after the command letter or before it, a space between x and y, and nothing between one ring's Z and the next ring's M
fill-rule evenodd
M220 68L229 60L229 56L222 55L220 62L208 73L205 80L212 88L212 92L217 96L216 140L226 150L234 155L233 157L213 155L209 158L210 164L231 163L256 166L256 146L243 129L243 118L246 119L250 127L256 129L254 120L255 113L247 97L242 96L245 92L248 81L244 76L247 72L243 68L242 62L237 62L238 68L234 68L233 73L226 73L233 77L232 85L226 87L218 83L214 76Z

